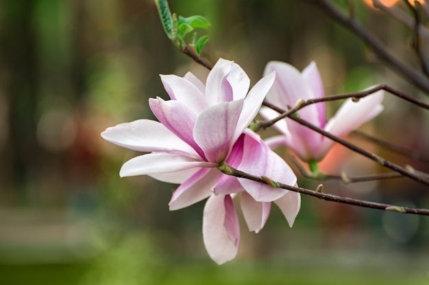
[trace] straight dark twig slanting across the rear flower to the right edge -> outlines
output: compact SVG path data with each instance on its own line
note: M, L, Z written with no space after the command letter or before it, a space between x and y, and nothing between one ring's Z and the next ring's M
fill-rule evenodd
M271 103L264 102L263 104L275 111L278 111L279 113L285 113L283 109L280 109L279 107L272 105ZM313 131L316 131L317 133L320 133L325 137L328 137L329 139L332 139L333 141L336 141L337 143L345 146L346 148L349 148L350 150L353 150L354 152L357 152L363 155L364 157L367 157L373 161L376 161L376 163L378 163L379 165L392 169L395 172L399 172L400 174L407 176L417 182L420 182L423 185L429 186L429 178L420 176L414 171L408 170L404 167L400 167L400 165L392 163L391 161L388 161L387 159L384 159L378 156L377 154L374 154L372 152L369 152L368 150L360 148L355 144L352 144L349 141L346 141L345 139L341 139L340 137L337 137L336 135L332 135L332 133L329 133L323 130L322 128L319 128L318 126L310 124L309 122L307 122L306 120L303 120L302 118L298 118L297 116L294 116L294 115L289 115L288 118L290 118L291 120L294 120L298 124L302 124L303 126L306 126L307 128L312 129Z

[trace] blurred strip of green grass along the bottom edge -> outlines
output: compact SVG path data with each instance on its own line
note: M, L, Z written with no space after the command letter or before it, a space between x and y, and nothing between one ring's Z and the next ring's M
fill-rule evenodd
M71 264L1 264L0 284L427 284L427 273L409 271L378 271L376 269L343 269L341 264L327 269L308 264L296 267L289 262L238 262L218 267L202 260L187 260L169 264L162 275L151 275L151 271L140 271L141 280L135 275L118 278L118 272L105 272L94 278L93 263L77 262ZM124 268L117 267L117 271ZM127 271L127 269L125 269ZM121 275L121 273L119 273ZM89 277L88 276L92 276ZM90 283L88 280L91 280ZM129 282L131 280L131 282Z

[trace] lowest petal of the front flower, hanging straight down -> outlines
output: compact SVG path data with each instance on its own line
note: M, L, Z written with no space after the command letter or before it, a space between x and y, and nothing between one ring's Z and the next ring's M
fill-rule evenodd
M232 260L238 251L238 217L230 195L211 195L204 207L203 239L217 264Z

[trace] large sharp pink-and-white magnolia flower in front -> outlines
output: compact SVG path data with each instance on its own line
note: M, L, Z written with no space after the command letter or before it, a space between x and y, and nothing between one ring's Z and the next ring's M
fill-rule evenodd
M299 194L227 176L217 168L228 163L249 174L296 184L289 165L247 129L274 77L268 74L249 91L247 74L225 59L215 64L206 85L191 72L184 77L161 75L171 100L149 99L159 122L136 120L101 133L119 146L150 152L127 161L120 176L149 175L181 184L169 203L171 211L210 197L204 209L204 244L219 264L237 252L238 220L232 204L236 193L242 192L245 220L256 232L264 226L271 202L280 206L290 225L299 211Z

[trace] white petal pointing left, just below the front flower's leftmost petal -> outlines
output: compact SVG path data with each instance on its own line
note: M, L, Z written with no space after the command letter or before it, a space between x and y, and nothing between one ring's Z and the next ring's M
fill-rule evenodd
M122 165L119 175L136 176L177 172L195 167L217 167L217 164L201 161L186 155L167 152L151 152L134 157Z

